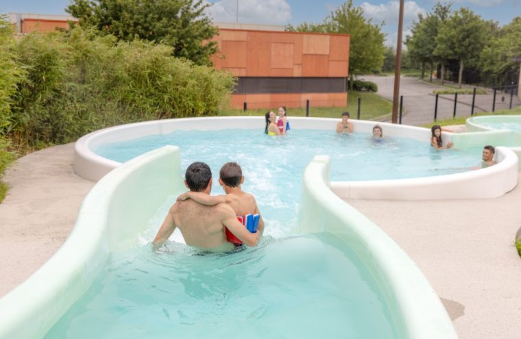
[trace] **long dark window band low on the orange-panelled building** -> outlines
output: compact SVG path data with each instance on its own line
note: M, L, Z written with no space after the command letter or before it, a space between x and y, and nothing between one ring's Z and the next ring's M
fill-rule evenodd
M345 77L239 77L235 93L346 92Z

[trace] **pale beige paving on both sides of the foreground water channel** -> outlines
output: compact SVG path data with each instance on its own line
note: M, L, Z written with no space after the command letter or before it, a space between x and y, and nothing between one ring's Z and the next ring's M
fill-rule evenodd
M60 247L93 181L73 173L73 143L19 159L0 204L0 296ZM521 180L521 175L519 176ZM521 188L498 199L348 201L393 238L444 301L460 338L521 333Z

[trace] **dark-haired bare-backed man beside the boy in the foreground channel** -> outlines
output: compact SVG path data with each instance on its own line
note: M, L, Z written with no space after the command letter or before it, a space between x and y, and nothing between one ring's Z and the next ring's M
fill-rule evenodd
M194 162L186 168L184 184L193 192L210 194L212 190L212 172L203 162ZM243 244L254 247L258 244L260 231L250 233L237 220L234 210L227 203L207 206L192 199L177 201L170 208L156 238L154 247L159 247L178 227L186 244L200 249L227 251L233 249L226 240L224 227L237 236Z

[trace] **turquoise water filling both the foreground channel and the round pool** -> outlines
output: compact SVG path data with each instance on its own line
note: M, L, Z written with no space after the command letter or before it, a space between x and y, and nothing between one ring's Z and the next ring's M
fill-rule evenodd
M166 249L152 251L149 242L180 193L173 192L138 236L141 246L111 253L107 269L45 338L398 338L356 253L329 234L290 236L304 168L327 154L333 180L397 179L468 171L481 160L481 149L433 151L428 140L311 130L279 138L176 131L95 152L124 162L162 145L181 148L182 171L203 161L217 179L222 164L241 164L243 190L254 194L266 224L261 244L201 255L176 231ZM215 185L213 194L221 193Z

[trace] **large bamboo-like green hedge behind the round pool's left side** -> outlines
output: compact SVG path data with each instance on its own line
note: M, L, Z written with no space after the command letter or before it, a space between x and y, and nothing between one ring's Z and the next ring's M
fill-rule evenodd
M76 27L29 34L12 49L26 74L12 96L10 137L30 146L73 141L103 127L217 114L235 79L173 58L171 47L117 42Z

